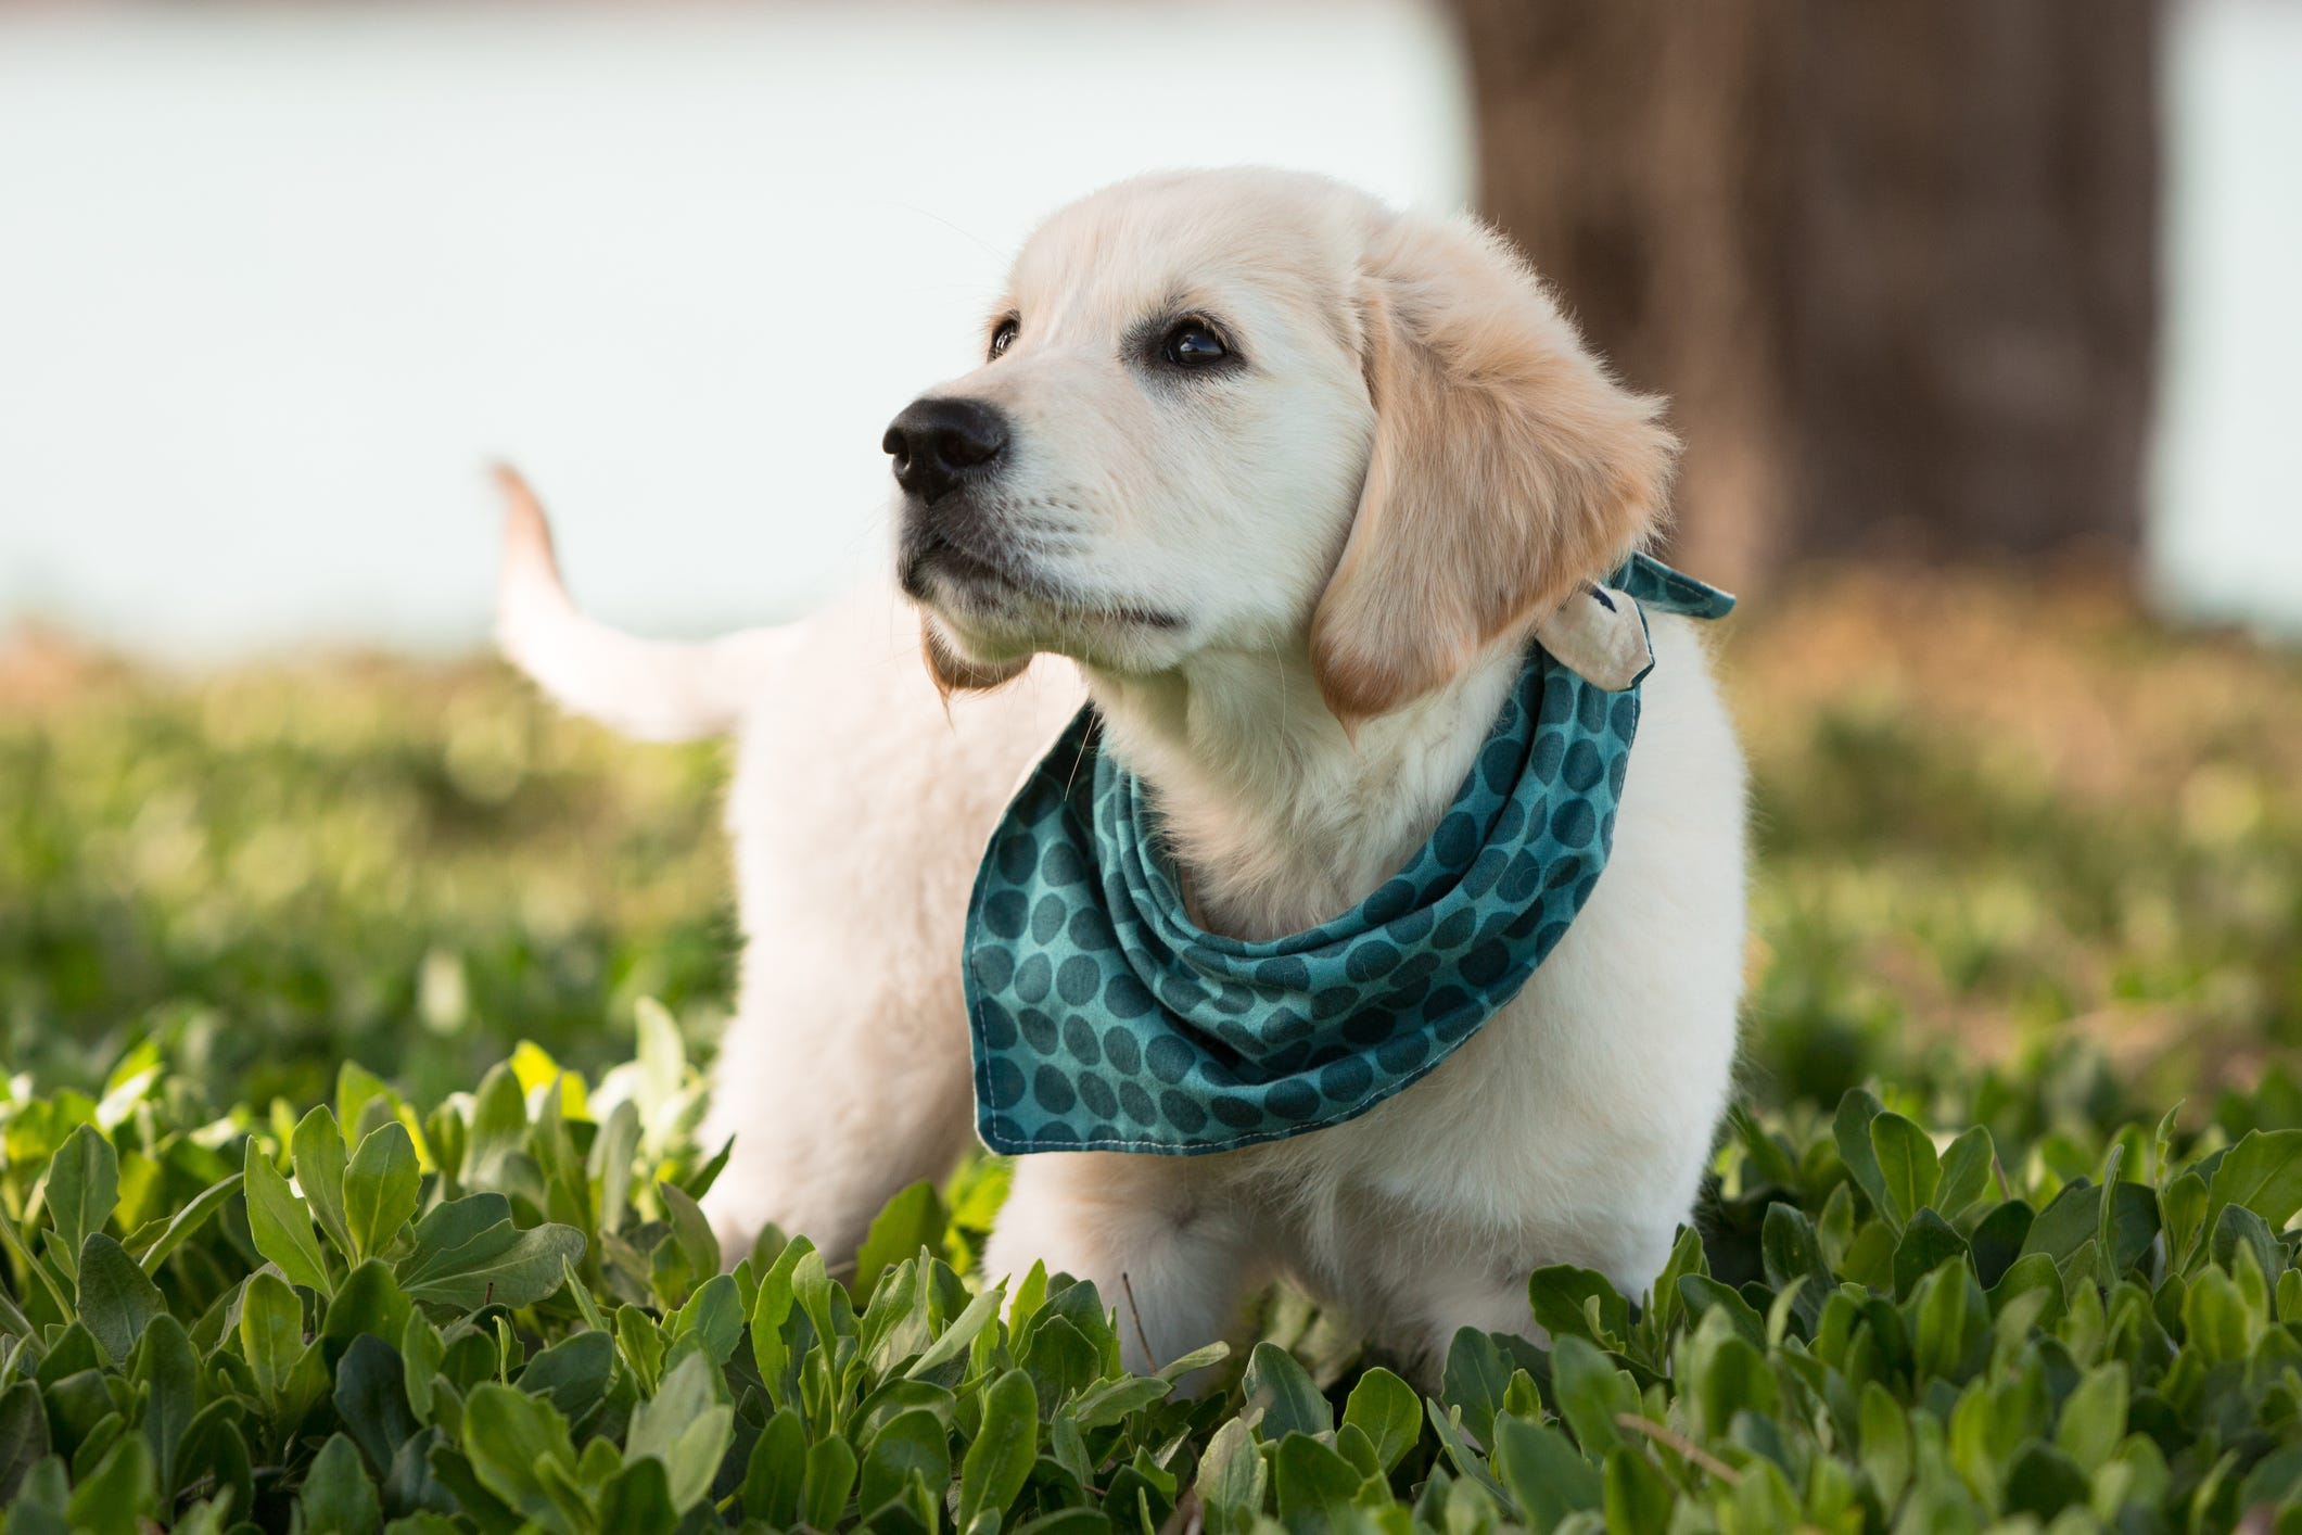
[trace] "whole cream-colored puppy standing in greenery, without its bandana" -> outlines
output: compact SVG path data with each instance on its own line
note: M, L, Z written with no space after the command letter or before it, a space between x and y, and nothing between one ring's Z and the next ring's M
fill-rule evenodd
M773 1220L847 1252L969 1144L969 886L1082 695L1195 918L1312 927L1430 838L1529 635L1651 534L1655 417L1476 223L1229 170L1059 212L985 361L889 428L909 605L615 635L571 608L516 488L509 654L635 734L741 736L723 1240ZM1533 1330L1540 1263L1639 1293L1694 1201L1743 969L1740 757L1692 626L1655 614L1653 651L1607 872L1515 1001L1328 1130L1020 1158L988 1270L1045 1259L1133 1296L1128 1351L1158 1358L1271 1275L1425 1362L1464 1323Z

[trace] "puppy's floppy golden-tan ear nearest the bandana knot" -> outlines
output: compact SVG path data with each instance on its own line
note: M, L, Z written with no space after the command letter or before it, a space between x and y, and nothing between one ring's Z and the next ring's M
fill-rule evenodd
M1616 384L1533 272L1469 223L1395 219L1358 288L1374 449L1312 612L1344 723L1455 677L1660 522L1678 442Z

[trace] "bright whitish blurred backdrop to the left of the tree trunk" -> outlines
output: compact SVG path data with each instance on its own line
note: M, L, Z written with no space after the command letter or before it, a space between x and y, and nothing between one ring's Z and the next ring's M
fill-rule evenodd
M1420 7L0 9L0 624L460 647L529 469L656 631L875 575L879 430L1050 207L1264 161L1455 205Z

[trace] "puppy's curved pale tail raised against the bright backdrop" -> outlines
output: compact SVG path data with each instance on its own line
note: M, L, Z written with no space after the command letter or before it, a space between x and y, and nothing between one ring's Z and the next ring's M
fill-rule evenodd
M559 707L642 741L693 741L734 730L767 670L792 644L785 628L746 628L679 644L642 640L587 617L559 580L543 504L518 469L497 465L504 492L504 573L495 642Z

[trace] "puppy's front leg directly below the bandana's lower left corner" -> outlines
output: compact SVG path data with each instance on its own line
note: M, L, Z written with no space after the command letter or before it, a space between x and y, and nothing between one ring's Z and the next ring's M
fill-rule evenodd
M1121 1153L1015 1162L983 1273L1020 1277L1034 1261L1093 1282L1119 1312L1121 1355L1135 1374L1225 1337L1243 1289L1264 1277L1255 1217L1236 1192L1209 1187L1176 1158Z

